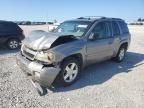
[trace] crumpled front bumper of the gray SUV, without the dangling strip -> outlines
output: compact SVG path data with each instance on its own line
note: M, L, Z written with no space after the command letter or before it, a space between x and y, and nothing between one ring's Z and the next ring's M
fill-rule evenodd
M34 82L38 82L41 86L50 87L60 72L59 67L48 67L34 61L26 59L21 54L16 57L17 65L27 75L32 77Z

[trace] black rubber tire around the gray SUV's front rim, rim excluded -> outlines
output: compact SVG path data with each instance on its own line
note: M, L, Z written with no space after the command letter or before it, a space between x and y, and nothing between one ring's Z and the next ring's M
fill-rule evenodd
M77 65L78 72L77 72L76 77L72 81L66 82L64 79L64 76L65 76L64 74L66 73L66 67L69 66L71 63L75 63ZM66 86L73 84L78 79L80 70L81 70L81 65L80 65L80 62L76 58L74 58L74 57L67 58L61 64L61 72L57 76L57 78L54 82L54 85L66 87Z

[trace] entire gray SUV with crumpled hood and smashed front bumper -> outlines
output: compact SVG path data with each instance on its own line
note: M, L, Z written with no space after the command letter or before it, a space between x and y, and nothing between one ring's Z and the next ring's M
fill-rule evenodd
M130 33L122 19L81 17L52 32L32 31L22 42L17 64L43 87L54 82L68 86L90 64L123 61L129 44Z

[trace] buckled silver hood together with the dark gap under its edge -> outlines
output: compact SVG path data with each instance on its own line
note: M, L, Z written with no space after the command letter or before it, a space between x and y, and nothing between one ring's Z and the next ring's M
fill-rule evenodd
M76 37L63 33L48 33L41 30L32 31L23 41L28 48L41 51L77 40Z

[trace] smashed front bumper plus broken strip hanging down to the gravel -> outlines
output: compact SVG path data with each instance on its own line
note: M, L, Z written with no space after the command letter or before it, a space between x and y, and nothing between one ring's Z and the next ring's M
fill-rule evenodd
M21 53L17 54L16 61L20 69L30 78L39 95L44 95L47 91L46 88L52 87L56 76L60 72L58 66L31 61Z

